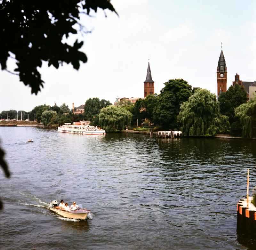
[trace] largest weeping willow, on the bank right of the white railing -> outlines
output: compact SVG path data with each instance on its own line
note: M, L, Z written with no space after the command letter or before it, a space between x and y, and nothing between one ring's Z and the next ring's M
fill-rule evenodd
M220 114L216 96L209 90L198 89L180 106L177 121L184 136L206 136L228 132L228 117Z

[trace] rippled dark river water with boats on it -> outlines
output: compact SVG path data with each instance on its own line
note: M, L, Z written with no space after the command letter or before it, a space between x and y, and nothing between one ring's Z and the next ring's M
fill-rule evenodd
M256 185L256 141L81 136L0 128L3 249L255 249L236 233L236 203ZM25 143L33 138L34 143ZM64 199L86 221L47 209Z

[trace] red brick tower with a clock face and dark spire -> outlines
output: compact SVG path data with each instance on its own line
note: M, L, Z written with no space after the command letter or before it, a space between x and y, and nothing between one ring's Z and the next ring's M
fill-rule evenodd
M218 97L221 92L227 92L227 65L222 50L217 67L217 88Z

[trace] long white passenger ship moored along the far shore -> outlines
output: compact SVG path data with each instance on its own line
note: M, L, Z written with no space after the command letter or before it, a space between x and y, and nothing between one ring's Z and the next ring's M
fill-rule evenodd
M78 135L105 135L106 131L101 128L97 128L94 126L85 125L83 121L74 122L74 125L71 123L65 123L65 125L58 127L58 132L61 133L71 133L71 134L78 134Z

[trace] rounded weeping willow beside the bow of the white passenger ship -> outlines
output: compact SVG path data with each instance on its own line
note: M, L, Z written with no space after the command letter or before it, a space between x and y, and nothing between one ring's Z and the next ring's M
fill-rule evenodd
M107 132L124 129L132 121L132 113L121 106L108 106L100 110L100 126Z

